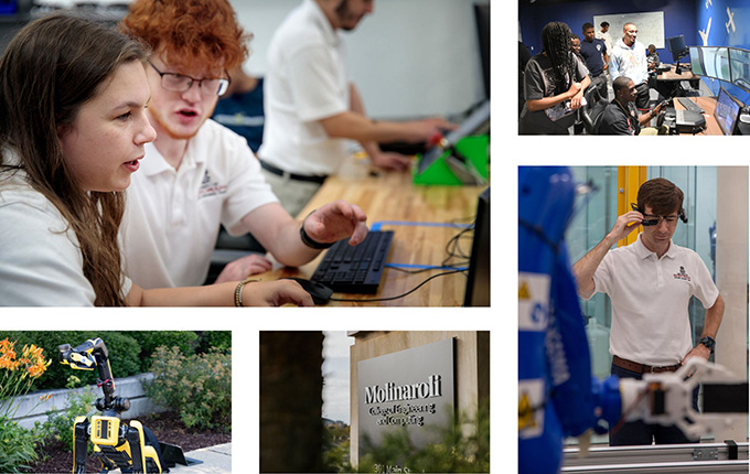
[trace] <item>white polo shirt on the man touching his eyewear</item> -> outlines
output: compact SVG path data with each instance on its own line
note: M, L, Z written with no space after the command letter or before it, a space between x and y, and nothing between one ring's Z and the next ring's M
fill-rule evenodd
M612 301L610 354L653 366L679 363L693 347L688 303L711 308L719 290L695 251L669 244L656 258L642 243L610 250L593 274Z

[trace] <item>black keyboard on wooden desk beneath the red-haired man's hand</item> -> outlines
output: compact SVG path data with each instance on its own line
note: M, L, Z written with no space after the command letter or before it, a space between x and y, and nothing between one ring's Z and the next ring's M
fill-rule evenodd
M310 280L341 293L376 293L385 268L393 230L371 230L360 245L349 238L328 249Z

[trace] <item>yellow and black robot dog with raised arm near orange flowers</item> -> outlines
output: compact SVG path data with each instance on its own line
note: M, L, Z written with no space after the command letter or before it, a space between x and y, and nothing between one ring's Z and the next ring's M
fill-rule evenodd
M86 472L88 441L94 443L94 455L101 460L103 472L119 467L121 472L161 473L160 453L146 444L143 425L135 420L127 423L120 419L120 413L130 409L130 401L115 397L115 380L104 342L97 337L74 348L64 344L57 349L61 364L81 370L94 370L96 367L99 371L97 385L104 391L104 397L96 400L96 409L101 414L93 416L90 421L86 417L75 419L73 473Z

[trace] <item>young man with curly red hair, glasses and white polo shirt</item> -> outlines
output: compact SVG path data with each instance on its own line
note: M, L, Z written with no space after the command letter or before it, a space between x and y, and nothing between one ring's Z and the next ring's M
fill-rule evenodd
M152 50L146 65L148 115L157 139L128 188L120 237L128 274L143 288L201 284L219 224L251 233L279 262L299 266L342 238L361 243L366 216L336 201L302 222L265 182L245 139L210 120L231 82L227 71L248 55L248 35L226 0L136 0L121 30ZM228 263L216 282L271 268L258 255Z

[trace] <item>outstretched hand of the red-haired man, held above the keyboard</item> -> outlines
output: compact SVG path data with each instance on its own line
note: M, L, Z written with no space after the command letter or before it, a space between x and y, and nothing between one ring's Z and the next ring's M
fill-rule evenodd
M308 236L318 243L334 243L351 236L349 244L357 245L367 235L366 220L360 206L339 200L313 211L302 225Z

